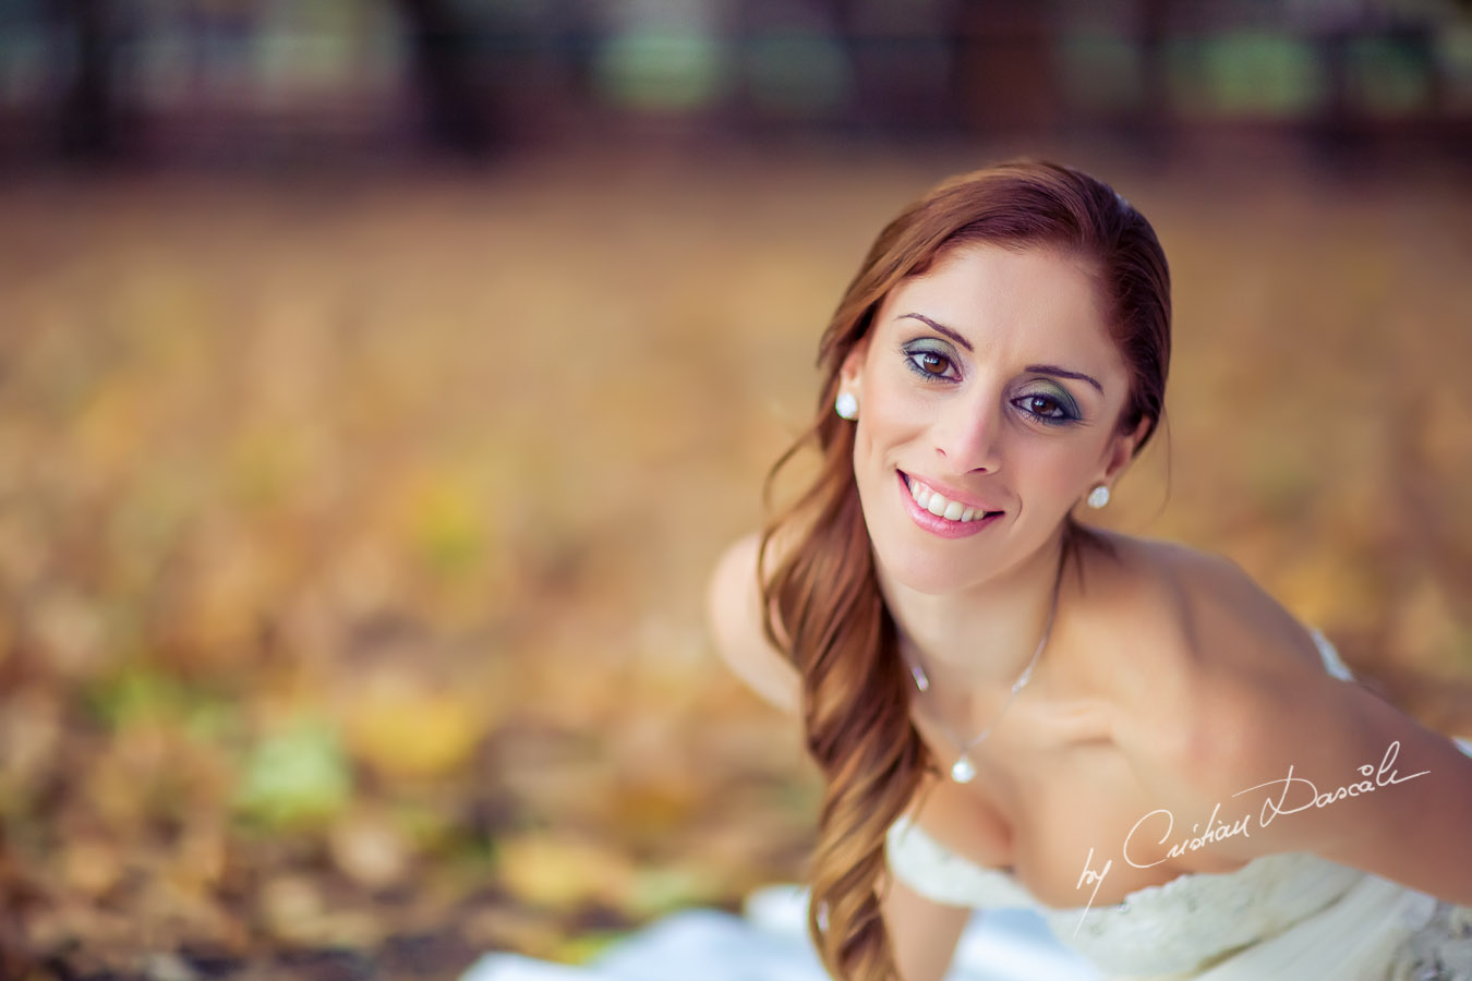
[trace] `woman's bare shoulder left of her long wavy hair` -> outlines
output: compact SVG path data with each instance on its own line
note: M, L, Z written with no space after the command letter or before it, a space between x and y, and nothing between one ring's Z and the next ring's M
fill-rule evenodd
M801 704L801 679L796 669L762 632L761 581L757 559L761 532L752 531L721 553L705 587L705 615L715 649L726 665L758 696L788 712ZM780 562L783 538L773 535L767 546L762 579ZM782 625L777 638L786 641Z

